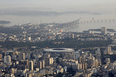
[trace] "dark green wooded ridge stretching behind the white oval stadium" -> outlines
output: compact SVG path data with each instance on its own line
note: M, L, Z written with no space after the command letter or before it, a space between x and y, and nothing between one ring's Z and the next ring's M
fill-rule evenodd
M53 44L54 41L62 41L62 44ZM41 41L41 42L17 42L17 41L5 41L0 42L4 48L14 48L14 47L31 47L38 46L41 48L49 47L49 48L87 48L87 47L100 47L107 46L111 43L111 40L99 40L99 41L78 41L77 39L63 39L63 40L52 40L52 41Z

